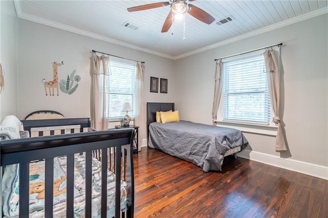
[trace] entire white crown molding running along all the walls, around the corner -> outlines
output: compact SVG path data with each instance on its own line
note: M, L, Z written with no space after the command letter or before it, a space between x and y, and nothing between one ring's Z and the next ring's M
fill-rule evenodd
M177 56L171 56L171 55L164 54L164 53L161 53L161 52L157 52L157 51L154 51L154 50L145 49L145 48L142 48L142 47L139 47L139 46L135 46L135 45L132 45L130 43L120 41L120 40L117 40L117 39L114 39L114 38L106 37L106 36L103 36L103 35L100 35L100 34L95 34L95 33L92 33L92 32L86 31L86 30L81 30L81 29L78 29L78 28L75 28L75 27L72 27L72 26L69 26L69 25L65 25L65 24L57 23L57 22L54 22L54 21L51 21L51 20L48 20L48 19L44 19L44 18L41 18L41 17L25 14L25 13L22 12L22 9L20 7L20 2L17 1L17 0L14 0L14 5L15 5L16 14L17 14L18 18L30 20L30 21L33 21L33 22L38 23L38 24L43 24L43 25L46 25L46 26L50 26L50 27L60 29L60 30L65 30L65 31L68 31L68 32L88 36L88 37L91 37L91 38L94 38L94 39L114 43L115 45L124 46L124 47L130 48L130 49L135 49L135 50L138 50L138 51L141 51L141 52L146 52L146 53L149 53L149 54L157 55L157 56L160 56L160 57L165 57L165 58L172 59L172 60L177 60L177 59L180 59L180 58L183 58L183 57L188 57L188 56L191 56L191 55L194 55L194 54L198 54L200 52L204 52L204 51L211 50L211 49L214 49L214 48L218 48L218 47L221 47L221 46L224 46L224 45L228 45L232 42L236 42L236 41L239 41L239 40L242 40L242 39L245 39L245 38L249 38L249 37L256 36L256 35L259 35L259 34L262 34L262 33L266 33L266 32L272 31L272 30L276 30L276 29L279 29L281 27L289 26L289 25L298 23L300 21L303 21L303 20L306 20L306 19L310 19L310 18L313 18L313 17L320 16L320 15L328 13L328 7L321 8L321 9L315 10L315 11L310 12L310 13L306 13L306 14L303 14L303 15L288 19L288 20L281 21L277 24L273 24L273 25L270 25L268 27L263 27L261 29L254 30L254 31L249 32L249 33L245 33L245 34L242 34L242 35L239 35L239 36L236 36L236 37L224 40L224 41L220 41L218 43L214 43L212 45L209 45L209 46L206 46L206 47L203 47L203 48L200 48L200 49L196 49L196 50L191 51L191 52L187 52L187 53L177 55Z

